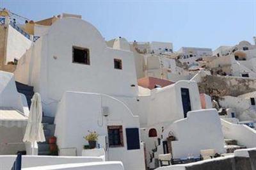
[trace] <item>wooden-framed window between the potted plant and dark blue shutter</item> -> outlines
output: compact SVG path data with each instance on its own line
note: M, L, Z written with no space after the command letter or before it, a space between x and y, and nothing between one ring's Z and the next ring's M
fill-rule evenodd
M123 127L108 126L109 148L124 147Z

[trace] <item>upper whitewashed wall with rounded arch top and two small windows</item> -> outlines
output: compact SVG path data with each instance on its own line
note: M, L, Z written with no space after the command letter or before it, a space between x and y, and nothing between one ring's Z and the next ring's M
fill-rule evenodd
M90 65L72 63L73 45L90 49ZM122 59L122 70L114 68L114 58ZM15 74L18 81L34 86L42 95L45 114L51 116L68 90L138 95L133 53L107 47L94 26L71 17L52 24L20 61Z

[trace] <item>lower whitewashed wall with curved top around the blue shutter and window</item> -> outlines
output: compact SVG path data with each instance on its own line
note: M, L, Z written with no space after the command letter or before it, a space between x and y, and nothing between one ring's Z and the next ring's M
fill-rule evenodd
M102 116L102 106L108 107L109 116ZM94 93L68 91L63 96L55 118L59 148L77 148L81 155L87 142L83 136L88 130L99 135L108 135L108 125L122 125L124 147L108 148L108 160L122 161L125 169L145 169L143 147L140 150L127 150L125 128L140 128L138 116L115 98Z

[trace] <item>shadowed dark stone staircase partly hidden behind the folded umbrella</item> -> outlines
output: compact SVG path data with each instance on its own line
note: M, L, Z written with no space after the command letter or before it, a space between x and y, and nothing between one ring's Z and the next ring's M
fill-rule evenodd
M26 96L28 106L30 108L31 98L34 95L33 86L28 86L26 84L16 82L16 88L19 93L22 93ZM51 155L51 152L49 151L50 145L48 141L50 137L54 136L54 132L55 132L54 117L44 116L44 112L43 112L42 123L44 125L45 142L38 143L38 155Z

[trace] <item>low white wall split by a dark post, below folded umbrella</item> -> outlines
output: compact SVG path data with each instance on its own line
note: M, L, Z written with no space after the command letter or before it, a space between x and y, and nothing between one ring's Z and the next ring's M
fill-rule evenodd
M16 155L0 155L0 169L11 169ZM99 157L54 157L22 155L22 167L52 166L85 162L102 162Z

